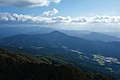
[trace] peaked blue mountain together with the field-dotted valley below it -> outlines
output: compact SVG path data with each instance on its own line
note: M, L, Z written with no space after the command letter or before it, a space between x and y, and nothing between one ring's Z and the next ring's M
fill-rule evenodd
M1 48L32 56L59 56L79 68L83 67L83 70L101 72L119 79L119 54L112 52L120 51L111 47L119 47L120 43L117 43L86 40L59 31L20 34L0 39Z

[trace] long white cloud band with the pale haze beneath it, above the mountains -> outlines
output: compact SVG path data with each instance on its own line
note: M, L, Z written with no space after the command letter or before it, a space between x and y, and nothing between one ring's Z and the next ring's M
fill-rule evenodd
M19 25L18 25L19 24ZM120 16L41 17L16 13L0 13L0 26L52 26L62 29L120 31Z

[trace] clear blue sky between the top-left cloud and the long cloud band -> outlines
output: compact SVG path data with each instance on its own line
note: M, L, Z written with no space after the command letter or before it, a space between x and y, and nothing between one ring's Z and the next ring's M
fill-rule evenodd
M5 5L0 6L0 12L40 15L42 12L51 10L53 8L56 8L60 11L60 13L57 14L60 16L114 16L120 14L120 0L61 0L58 4L51 3L49 6L37 6L29 8Z

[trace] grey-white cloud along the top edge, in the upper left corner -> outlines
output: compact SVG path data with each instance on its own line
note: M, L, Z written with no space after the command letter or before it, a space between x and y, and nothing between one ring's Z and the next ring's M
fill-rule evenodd
M50 3L59 3L61 0L2 0L1 6L15 6L15 7L36 7L48 6Z

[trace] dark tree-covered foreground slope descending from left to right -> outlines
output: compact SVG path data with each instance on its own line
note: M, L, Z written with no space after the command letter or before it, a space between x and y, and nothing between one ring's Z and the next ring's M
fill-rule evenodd
M54 64L57 61L57 64ZM58 63L62 61L64 64ZM0 49L0 80L112 80L83 72L62 58L28 56Z

